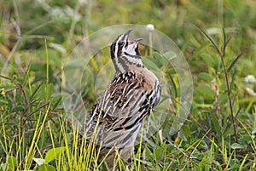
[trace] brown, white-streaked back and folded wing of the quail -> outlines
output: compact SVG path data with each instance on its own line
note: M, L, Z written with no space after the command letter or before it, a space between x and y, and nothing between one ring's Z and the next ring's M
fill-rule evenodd
M107 92L97 99L96 104L86 118L82 134L86 134L86 137L90 139L97 122L99 123L97 129L101 129L96 131L96 136L101 137L97 140L102 140L102 134L106 136L108 130L114 127L119 128L122 119L128 117L130 109L142 104L142 102L137 101L141 97L142 82L142 80L137 79L137 75L133 72L126 72L114 77ZM133 104L135 105L133 106Z

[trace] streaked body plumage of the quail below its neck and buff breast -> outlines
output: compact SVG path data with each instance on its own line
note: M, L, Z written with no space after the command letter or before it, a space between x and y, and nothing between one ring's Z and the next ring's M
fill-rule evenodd
M143 82L134 72L120 74L97 100L84 127L92 133L101 113L96 140L102 147L133 145L143 119L160 100L158 81L151 90L143 88Z

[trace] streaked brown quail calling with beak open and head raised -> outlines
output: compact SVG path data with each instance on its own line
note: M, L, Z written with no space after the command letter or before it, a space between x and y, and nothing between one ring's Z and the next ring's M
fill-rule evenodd
M80 130L81 137L94 140L99 161L113 168L116 157L131 157L143 120L160 102L159 79L144 65L139 51L142 38L129 40L132 29L110 45L115 74L100 95Z

